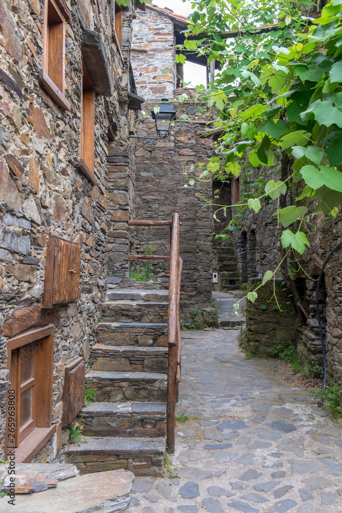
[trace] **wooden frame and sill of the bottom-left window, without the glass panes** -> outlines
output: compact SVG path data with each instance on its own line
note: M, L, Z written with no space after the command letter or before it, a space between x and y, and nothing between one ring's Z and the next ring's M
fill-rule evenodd
M9 443L8 431L9 411L7 408L6 415L6 439L5 453L15 448L15 461L17 463L30 463L37 455L46 442L56 432L56 424L52 424L52 394L53 394L53 333L54 325L49 324L43 328L32 329L17 335L8 340L7 356L9 381L11 381L10 390L15 390L15 443ZM34 344L34 428L25 430L20 433L18 426L20 425L20 398L18 394L19 386L19 369L18 362L15 361L18 348ZM12 358L14 357L14 359ZM23 388L23 387L22 387ZM9 394L9 392L7 392ZM32 426L31 426L32 427Z

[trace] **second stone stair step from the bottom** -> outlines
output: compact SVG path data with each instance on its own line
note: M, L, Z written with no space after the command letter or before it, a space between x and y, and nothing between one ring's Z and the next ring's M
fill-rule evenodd
M166 403L92 403L78 418L87 437L164 437Z

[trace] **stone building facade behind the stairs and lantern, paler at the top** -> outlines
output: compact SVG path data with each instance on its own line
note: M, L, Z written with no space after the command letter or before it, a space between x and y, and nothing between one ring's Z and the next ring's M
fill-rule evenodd
M179 213L180 255L184 260L180 304L184 312L195 307L211 306L213 222L211 206L204 206L199 189L185 189L184 173L192 165L207 162L212 155L211 141L201 139L208 117L198 111L200 106L194 91L177 86L179 67L174 61L175 42L188 21L169 8L146 5L145 12L137 11L133 22L132 68L138 94L146 98L147 117L140 116L136 135L155 137L151 117L153 106L162 98L172 102L176 119L172 133L165 140L147 143L135 156L136 219L170 219ZM158 65L156 64L158 62ZM182 94L188 100L179 103ZM181 119L186 114L188 119ZM138 140L143 141L143 140ZM211 199L212 191L207 191ZM168 228L139 228L135 230L134 252L145 254L152 244L155 254L169 254ZM155 276L168 283L167 265L154 265Z

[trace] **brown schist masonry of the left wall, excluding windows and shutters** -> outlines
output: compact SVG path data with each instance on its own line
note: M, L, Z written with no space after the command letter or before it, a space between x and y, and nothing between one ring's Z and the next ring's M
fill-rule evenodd
M66 13L66 91L64 110L38 80L42 68L43 0L0 0L0 330L23 307L42 300L46 248L50 234L81 245L78 300L55 311L52 422L62 416L65 364L75 356L87 362L109 275L128 269L128 216L132 208L132 172L128 162L127 90L133 14L123 12L125 63L113 39L113 3L60 0ZM81 34L99 32L107 55L113 95L95 92L95 176L92 185L78 171L82 52ZM108 148L108 134L112 141ZM114 157L114 152L115 157ZM114 158L125 168L116 174ZM107 159L109 166L107 170ZM121 172L122 171L122 172ZM108 232L107 221L110 231ZM126 266L126 267L125 267ZM5 269L5 270L4 270ZM59 320L58 320L59 319ZM7 339L0 337L0 458L6 414ZM62 447L68 440L63 429ZM35 457L56 454L56 435Z

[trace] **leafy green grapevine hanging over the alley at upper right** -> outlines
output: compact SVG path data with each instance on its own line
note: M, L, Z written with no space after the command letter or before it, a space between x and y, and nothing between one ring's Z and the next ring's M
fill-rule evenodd
M290 252L298 262L310 246L308 235L324 216L340 211L342 0L193 0L192 6L188 37L179 48L220 63L214 82L198 86L191 100L205 104L200 109L212 114L219 138L210 161L187 171L189 185L197 182L205 191L210 180L239 177L243 188L235 205L203 194L216 212L233 207L231 222L218 235L222 240L240 229L243 216L258 214L262 204L273 206L286 269ZM280 160L286 163L281 170ZM253 179L256 168L260 180ZM263 283L279 268L268 270ZM254 302L261 286L246 298Z

